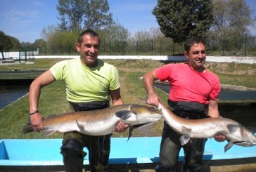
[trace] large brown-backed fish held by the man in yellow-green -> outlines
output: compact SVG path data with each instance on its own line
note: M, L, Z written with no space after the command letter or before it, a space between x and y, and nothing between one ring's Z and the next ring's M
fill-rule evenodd
M118 121L129 124L129 138L133 128L151 124L162 117L160 111L146 105L124 104L103 110L91 110L60 114L43 119L46 135L58 132L77 131L87 135L106 135L113 133ZM23 133L33 131L31 124L23 127ZM129 140L128 138L128 140Z

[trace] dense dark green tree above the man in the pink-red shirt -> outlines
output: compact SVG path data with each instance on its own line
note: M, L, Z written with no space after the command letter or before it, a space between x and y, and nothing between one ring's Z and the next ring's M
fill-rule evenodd
M153 9L160 30L174 43L187 37L205 37L212 24L211 0L158 0Z

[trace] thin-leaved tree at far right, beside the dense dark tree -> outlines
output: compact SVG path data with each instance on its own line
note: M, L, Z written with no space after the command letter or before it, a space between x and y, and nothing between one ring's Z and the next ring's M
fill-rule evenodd
M231 51L233 48L243 51L245 33L248 26L252 25L254 19L250 17L252 10L245 0L214 0L213 17L211 27L210 43L222 44L222 50ZM235 52L237 54L238 52Z

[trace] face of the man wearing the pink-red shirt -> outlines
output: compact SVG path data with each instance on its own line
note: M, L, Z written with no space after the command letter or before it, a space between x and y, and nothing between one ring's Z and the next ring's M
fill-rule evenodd
M185 51L184 55L188 59L188 65L190 65L193 70L200 71L204 69L203 65L205 64L206 51L205 46L202 43L193 44L190 51Z

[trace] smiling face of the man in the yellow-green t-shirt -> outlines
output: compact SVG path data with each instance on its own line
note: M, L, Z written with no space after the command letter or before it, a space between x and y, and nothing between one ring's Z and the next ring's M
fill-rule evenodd
M100 42L98 37L91 37L85 34L82 44L77 43L77 51L82 57L82 63L87 67L96 67L98 54L100 52Z

